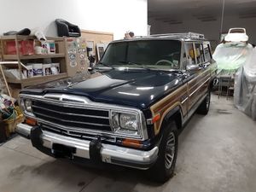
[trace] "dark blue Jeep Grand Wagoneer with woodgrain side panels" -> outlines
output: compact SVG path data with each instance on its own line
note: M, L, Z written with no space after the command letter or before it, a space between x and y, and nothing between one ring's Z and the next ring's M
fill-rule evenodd
M17 132L54 157L129 166L172 177L177 137L196 111L207 114L217 66L196 33L123 39L73 79L20 92Z

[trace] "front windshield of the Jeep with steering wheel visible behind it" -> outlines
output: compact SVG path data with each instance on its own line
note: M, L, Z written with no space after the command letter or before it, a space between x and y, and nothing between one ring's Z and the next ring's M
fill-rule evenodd
M138 40L108 45L98 66L178 69L181 42L178 40Z

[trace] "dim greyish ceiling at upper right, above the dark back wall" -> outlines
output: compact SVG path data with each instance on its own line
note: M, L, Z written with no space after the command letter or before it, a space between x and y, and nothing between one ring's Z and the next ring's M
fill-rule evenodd
M256 0L224 0L224 16L256 18ZM223 0L148 0L148 19L170 25L183 20L217 20Z

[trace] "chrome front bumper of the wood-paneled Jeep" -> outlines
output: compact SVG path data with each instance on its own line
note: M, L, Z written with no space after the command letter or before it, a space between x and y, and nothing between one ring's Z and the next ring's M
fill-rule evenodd
M137 169L148 169L154 165L158 157L158 147L154 147L149 151L143 151L134 148L124 148L112 144L100 143L101 148L95 149L92 146L93 141L82 140L73 137L66 137L49 131L41 131L41 128L31 125L18 124L16 132L26 138L32 140L32 145L45 154L54 156L55 144L75 148L73 151L73 160L75 157L84 160L96 161L97 154L100 160L105 163L115 164L119 166L129 166ZM92 151L91 150L96 150Z

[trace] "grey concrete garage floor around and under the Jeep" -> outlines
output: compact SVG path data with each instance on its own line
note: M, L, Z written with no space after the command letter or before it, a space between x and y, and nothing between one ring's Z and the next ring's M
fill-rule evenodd
M1 192L255 192L256 122L212 96L207 116L195 114L179 139L176 174L165 184L126 168L96 169L55 160L15 137L0 147Z

